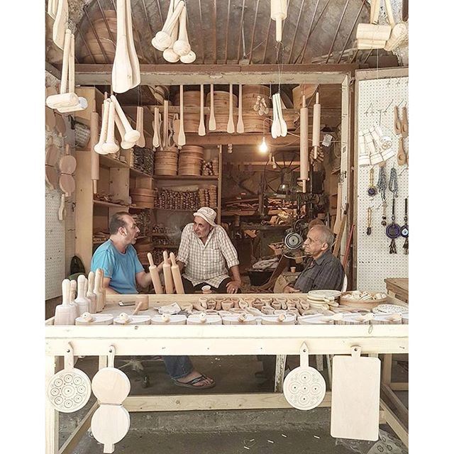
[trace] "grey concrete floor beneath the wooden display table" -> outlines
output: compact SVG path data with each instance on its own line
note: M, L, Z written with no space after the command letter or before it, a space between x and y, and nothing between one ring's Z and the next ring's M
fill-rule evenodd
M116 358L116 367L128 358ZM216 387L200 391L203 394L272 392L272 384L261 384L254 372L261 370L255 356L194 357L194 366L214 377ZM311 365L314 357L311 357ZM297 366L297 356L289 357L291 368ZM151 386L143 389L138 375L125 370L131 380L130 395L137 394L194 394L192 389L177 387L165 372L162 361L145 363ZM97 358L87 357L77 361L79 369L90 378L96 373ZM328 377L326 370L323 375ZM396 365L393 380L404 381L407 372ZM407 392L399 397L407 404ZM84 409L72 414L60 414L60 445L74 430L95 399L92 395ZM408 450L396 440L387 426L380 426L382 441L347 441L330 435L330 409L311 411L296 409L243 410L243 411L175 411L141 412L131 414L131 428L116 445L116 453L198 454L216 453L287 453L287 454L372 454L391 452L407 454ZM390 438L390 440L389 440ZM394 441L394 442L393 442ZM274 442L274 443L272 443ZM388 449L386 448L388 446ZM383 448L383 450L381 450ZM77 445L76 454L102 453L103 448L88 431Z

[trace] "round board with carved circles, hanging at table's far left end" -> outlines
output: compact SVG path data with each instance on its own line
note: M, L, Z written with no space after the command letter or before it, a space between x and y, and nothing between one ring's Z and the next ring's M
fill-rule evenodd
M48 384L47 395L50 404L62 413L82 409L92 394L90 379L82 370L74 369L74 350L68 342L65 350L65 367L57 372Z

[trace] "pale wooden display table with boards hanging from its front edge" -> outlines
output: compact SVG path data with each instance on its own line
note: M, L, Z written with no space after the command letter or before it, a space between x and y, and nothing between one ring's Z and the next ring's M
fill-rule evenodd
M230 295L231 296L231 295ZM253 296L248 294L248 296ZM276 294L258 294L276 297ZM281 295L284 296L284 295ZM214 295L228 297L228 295ZM156 306L175 301L194 301L199 295L149 295L150 314ZM108 295L104 313L131 313L133 306L120 307L118 301L133 301L135 295ZM390 302L402 304L391 299ZM59 358L71 342L74 355L99 356L99 367L105 367L109 345L116 355L299 355L305 342L311 355L348 355L353 345L360 345L362 353L377 356L381 353L408 353L408 325L364 326L54 326L53 319L45 326L45 372L47 386L57 371ZM276 372L282 384L283 365ZM277 389L277 388L275 388ZM184 394L162 396L130 396L123 403L128 411L224 410L291 408L282 394L282 386L275 393L248 394ZM72 453L90 426L98 403L87 410L79 426L58 449L58 412L46 399L46 454ZM331 392L326 392L321 406L331 406ZM380 401L380 423L387 423L408 445L408 430L404 423Z

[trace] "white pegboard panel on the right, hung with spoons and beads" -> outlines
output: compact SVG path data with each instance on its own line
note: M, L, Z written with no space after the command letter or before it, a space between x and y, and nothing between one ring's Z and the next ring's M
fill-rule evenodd
M409 195L409 170L407 165L397 164L399 135L394 133L394 106L402 106L408 111L408 77L369 79L358 81L358 128L361 131L371 128L375 123L382 127L384 135L392 140L394 156L386 161L387 185L392 167L397 170L398 194L395 199L395 222L404 224L405 198ZM384 291L384 279L387 277L408 277L409 255L404 254L405 238L396 241L397 254L389 253L391 240L386 236L382 221L382 197L380 193L373 197L367 194L370 181L370 165L358 165L358 133L356 134L355 170L357 171L357 226L356 226L356 288L367 291ZM404 138L404 150L408 151L409 139ZM379 166L374 167L374 185L377 186ZM387 223L392 216L392 192L387 189ZM372 233L367 236L367 209L372 208ZM409 223L409 222L408 222Z

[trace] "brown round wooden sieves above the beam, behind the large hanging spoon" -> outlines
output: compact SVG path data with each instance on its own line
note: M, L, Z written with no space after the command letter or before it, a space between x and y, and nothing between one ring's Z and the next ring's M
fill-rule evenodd
M80 46L79 50L79 62L80 63L112 63L115 58L115 46L116 46L116 11L106 10L102 16L101 11L96 11L91 15L92 27L88 26L87 32L84 35L84 43ZM95 35L98 35L96 38ZM133 26L134 46L135 52L140 63L147 63L142 50L139 45L140 35ZM102 50L100 45L102 46ZM104 50L104 52L103 52ZM106 57L104 57L104 53ZM106 61L107 59L107 61Z

